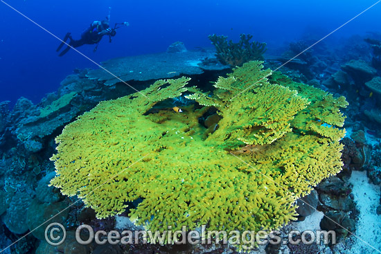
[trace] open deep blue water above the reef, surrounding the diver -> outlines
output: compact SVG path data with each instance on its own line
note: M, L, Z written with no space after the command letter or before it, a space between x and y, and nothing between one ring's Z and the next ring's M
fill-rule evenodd
M306 33L320 39L360 12L374 0L364 1L46 1L0 2L0 101L24 96L37 103L45 93L57 90L60 81L76 68L97 68L71 50L64 57L55 52L71 32L79 38L94 20L104 19L111 7L111 24L128 21L117 31L112 44L106 37L93 53L94 45L78 48L95 62L112 57L166 51L172 42L184 42L188 49L209 47L208 35L227 35L238 41L240 33L266 42L269 50L298 41ZM23 17L12 10L15 8ZM335 44L341 37L364 34L379 28L380 6L364 12L331 35ZM47 31L52 33L48 33Z

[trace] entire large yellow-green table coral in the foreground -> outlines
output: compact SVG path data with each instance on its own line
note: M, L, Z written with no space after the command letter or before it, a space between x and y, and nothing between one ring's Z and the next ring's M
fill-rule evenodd
M287 224L296 199L342 168L345 132L337 127L346 101L262 68L248 62L234 69L213 94L179 78L100 102L56 138L51 185L78 195L99 218L141 198L130 217L151 230ZM182 113L150 111L183 93L198 104ZM211 107L221 120L207 133L199 118Z

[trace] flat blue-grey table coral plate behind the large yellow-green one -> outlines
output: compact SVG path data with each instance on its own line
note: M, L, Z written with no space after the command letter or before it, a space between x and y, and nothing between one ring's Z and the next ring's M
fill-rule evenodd
M123 82L158 80L227 69L227 66L219 64L215 59L214 51L204 50L120 57L107 60L102 66L103 69L91 70L86 75L90 80L98 80L106 86L122 82L121 80Z

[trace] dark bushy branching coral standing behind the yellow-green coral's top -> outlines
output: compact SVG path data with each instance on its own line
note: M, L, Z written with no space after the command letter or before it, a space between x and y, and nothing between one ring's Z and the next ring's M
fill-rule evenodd
M215 46L218 60L222 64L231 66L242 66L245 62L251 60L263 60L263 54L266 52L266 44L260 42L250 42L253 35L240 35L240 41L234 43L228 41L224 35L209 35L209 39Z

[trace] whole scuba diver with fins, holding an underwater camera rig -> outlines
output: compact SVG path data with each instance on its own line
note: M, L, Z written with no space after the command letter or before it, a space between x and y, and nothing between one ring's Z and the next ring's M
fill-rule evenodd
M64 46L64 44L67 44L66 43L67 39L70 39L69 44L67 44L68 45L67 48L65 48L60 53L60 55L59 55L60 57L62 57L62 55L64 55L64 54L66 54L70 48L77 48L77 47L85 45L85 44L96 44L96 47L94 48L94 52L95 52L96 49L98 48L98 44L99 44L100 40L102 39L102 37L104 35L108 35L109 36L109 42L112 42L112 37L114 37L116 35L116 29L120 28L121 27L120 25L129 26L130 24L128 24L128 22L116 23L114 28L109 28L109 20L108 19L103 20L103 21L94 21L91 24L91 26L89 26L89 28L87 28L82 33L80 39L73 39L73 37L71 37L71 33L67 33L67 35L65 35L64 39L62 40L62 43L60 44L60 46L58 46L56 51L57 52L60 51L62 46Z

